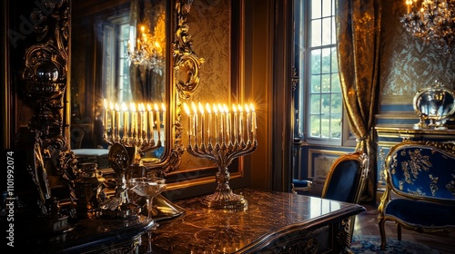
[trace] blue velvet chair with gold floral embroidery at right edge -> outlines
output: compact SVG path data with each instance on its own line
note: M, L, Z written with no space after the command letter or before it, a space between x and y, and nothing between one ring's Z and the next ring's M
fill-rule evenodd
M385 161L386 189L378 207L380 248L385 222L418 232L455 230L455 143L401 142Z

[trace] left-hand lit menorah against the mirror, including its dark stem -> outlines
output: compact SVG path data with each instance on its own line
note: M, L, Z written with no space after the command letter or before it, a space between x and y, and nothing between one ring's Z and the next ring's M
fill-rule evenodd
M107 103L104 112L104 140L111 145L109 161L116 171L116 197L105 202L105 213L124 217L131 215L131 204L126 200L126 174L146 176L141 154L161 147L161 122L165 123L166 107L161 110L150 103ZM156 127L156 128L155 128ZM156 129L156 130L155 130ZM164 131L164 130L163 130ZM156 138L157 136L157 138Z

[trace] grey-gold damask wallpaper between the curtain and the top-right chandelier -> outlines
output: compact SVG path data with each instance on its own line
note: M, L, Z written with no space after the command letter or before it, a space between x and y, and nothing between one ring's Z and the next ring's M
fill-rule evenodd
M455 88L455 55L442 55L399 23L404 1L382 1L381 104L412 104L415 93L438 79ZM399 108L398 108L399 109Z

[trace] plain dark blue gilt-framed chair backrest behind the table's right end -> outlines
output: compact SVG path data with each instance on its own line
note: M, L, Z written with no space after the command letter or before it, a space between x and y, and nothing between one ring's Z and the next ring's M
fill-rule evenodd
M359 203L368 171L369 158L363 151L341 155L330 167L322 198Z

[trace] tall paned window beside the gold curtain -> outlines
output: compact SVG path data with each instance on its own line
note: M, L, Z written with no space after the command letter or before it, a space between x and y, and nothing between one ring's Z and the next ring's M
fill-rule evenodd
M295 136L307 142L340 145L343 103L335 1L295 1L295 66L299 76Z

